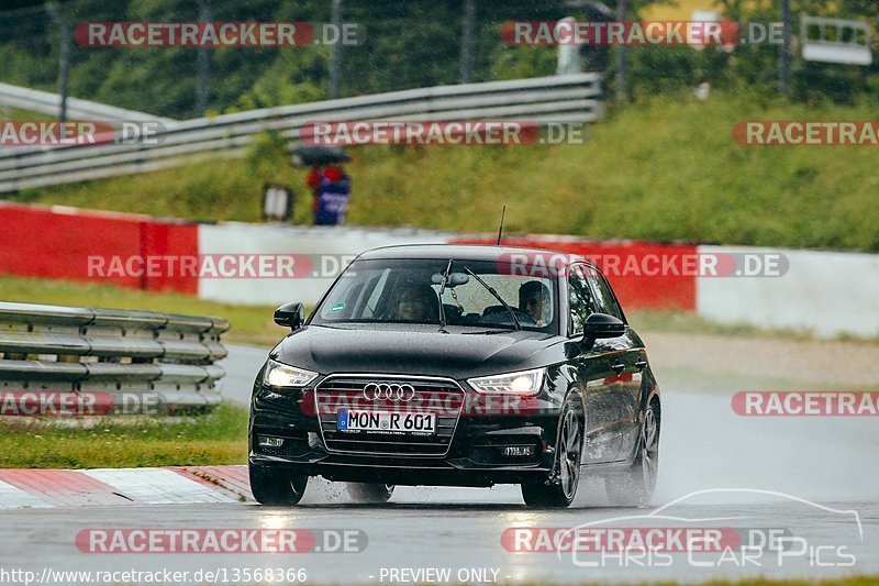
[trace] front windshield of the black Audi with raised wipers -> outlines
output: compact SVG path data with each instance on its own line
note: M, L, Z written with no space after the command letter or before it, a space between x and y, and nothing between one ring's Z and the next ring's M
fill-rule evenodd
M333 285L311 323L439 324L446 259L356 261ZM470 269L510 306L504 307ZM502 263L454 259L442 302L447 325L557 332L554 279L512 275Z

